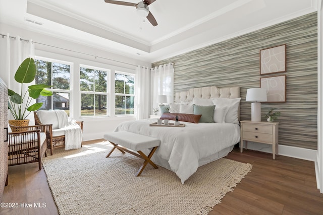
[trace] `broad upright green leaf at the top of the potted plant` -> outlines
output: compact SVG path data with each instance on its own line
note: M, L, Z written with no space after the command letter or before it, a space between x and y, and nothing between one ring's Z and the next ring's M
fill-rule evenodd
M33 58L26 58L18 67L15 80L18 83L30 83L36 76L36 65Z

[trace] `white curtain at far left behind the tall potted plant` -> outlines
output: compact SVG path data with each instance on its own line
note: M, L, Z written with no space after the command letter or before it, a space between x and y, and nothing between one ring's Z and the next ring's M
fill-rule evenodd
M10 38L10 34L7 33L6 41L2 41L1 44L6 44L6 49L2 50L1 56L4 56L1 59L1 70L5 72L0 73L0 78L4 80L7 84L8 89L11 89L20 94L20 83L15 81L15 74L18 66L26 59L27 57L34 58L34 44L31 39L27 41L21 40L20 36L14 36ZM33 83L30 83L33 84ZM11 114L9 119L13 119ZM27 119L30 119L30 124L34 121L33 115L29 114Z

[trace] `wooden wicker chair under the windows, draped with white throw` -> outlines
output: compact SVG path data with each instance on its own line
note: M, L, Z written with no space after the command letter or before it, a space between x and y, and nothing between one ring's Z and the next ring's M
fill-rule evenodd
M34 118L36 125L46 125L47 149L50 149L50 155L52 155L53 149L65 147L64 130L53 128L53 124L57 124L57 122L53 122L52 124L42 123L37 116L37 111L34 111ZM83 131L83 121L76 121L76 123L81 127L81 130Z

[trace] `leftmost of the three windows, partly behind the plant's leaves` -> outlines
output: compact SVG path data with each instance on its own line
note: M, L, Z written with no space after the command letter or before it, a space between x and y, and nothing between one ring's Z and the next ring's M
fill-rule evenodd
M36 84L51 85L52 96L40 96L37 102L42 102L40 109L63 109L70 114L70 78L72 63L35 59Z

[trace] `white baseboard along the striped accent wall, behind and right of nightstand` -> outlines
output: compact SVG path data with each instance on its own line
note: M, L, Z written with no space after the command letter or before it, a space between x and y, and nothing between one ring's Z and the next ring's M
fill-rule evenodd
M279 155L316 162L317 150L310 150L285 145L279 145L278 147ZM273 153L272 145L260 144L259 142L248 141L248 149L259 152Z

